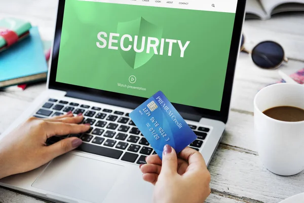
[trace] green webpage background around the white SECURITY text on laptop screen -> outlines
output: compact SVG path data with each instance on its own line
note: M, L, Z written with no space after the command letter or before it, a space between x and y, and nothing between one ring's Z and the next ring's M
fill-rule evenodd
M56 81L146 98L162 90L172 103L219 111L234 18L234 13L66 1ZM168 56L168 43L163 55L146 54L146 49L136 54L133 46L129 52L122 51L120 40L112 44L118 50L98 48L100 31L107 33L107 42L112 32L120 33L116 40L129 34L133 41L137 35L140 42L145 36L190 43L183 58L177 43L172 56ZM125 47L133 45L124 42ZM132 61L146 62L133 69ZM137 79L134 84L129 82L132 75Z

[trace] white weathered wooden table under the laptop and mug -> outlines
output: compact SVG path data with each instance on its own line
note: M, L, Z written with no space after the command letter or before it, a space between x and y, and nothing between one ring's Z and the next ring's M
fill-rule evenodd
M43 39L54 32L56 0L2 1L0 18L12 16L39 26ZM281 15L268 21L250 20L244 25L247 49L262 40L274 40L285 49L288 64L280 70L291 74L304 67L304 13ZM272 174L261 164L253 135L253 98L256 92L280 79L277 70L256 67L241 53L234 80L231 112L223 140L208 169L212 192L206 202L279 202L304 192L304 173L292 177ZM35 85L25 91L0 92L0 133L45 89ZM0 188L0 202L46 202L16 191Z

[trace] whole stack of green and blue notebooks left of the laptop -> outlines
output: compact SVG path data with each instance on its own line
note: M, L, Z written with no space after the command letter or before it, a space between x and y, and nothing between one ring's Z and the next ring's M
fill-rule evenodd
M0 27L0 88L46 80L49 44L38 28L13 18L0 20Z

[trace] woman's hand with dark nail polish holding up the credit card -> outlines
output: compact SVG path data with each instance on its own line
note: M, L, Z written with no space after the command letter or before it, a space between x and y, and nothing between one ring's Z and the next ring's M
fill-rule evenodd
M156 203L201 203L210 194L210 173L203 156L185 148L177 158L175 150L166 145L163 161L158 155L146 158L140 165L143 180L155 185Z

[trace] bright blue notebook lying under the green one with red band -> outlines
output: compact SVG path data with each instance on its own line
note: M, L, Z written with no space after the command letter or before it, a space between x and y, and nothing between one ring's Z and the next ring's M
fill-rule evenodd
M37 27L28 38L0 53L0 88L47 78L48 66Z

